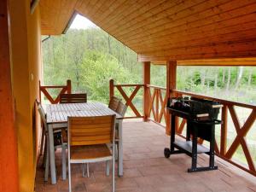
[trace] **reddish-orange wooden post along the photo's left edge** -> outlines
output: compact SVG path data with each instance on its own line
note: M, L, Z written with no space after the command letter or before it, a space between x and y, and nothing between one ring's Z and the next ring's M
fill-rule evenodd
M7 0L0 1L0 191L19 191Z

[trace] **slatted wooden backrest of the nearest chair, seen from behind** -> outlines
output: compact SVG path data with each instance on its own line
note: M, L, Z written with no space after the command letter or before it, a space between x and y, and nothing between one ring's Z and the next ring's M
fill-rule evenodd
M68 117L68 144L94 145L113 143L115 115Z

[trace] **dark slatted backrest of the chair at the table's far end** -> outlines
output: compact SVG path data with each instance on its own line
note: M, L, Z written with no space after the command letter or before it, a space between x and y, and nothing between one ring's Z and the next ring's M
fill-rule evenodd
M60 103L87 102L86 93L61 94Z

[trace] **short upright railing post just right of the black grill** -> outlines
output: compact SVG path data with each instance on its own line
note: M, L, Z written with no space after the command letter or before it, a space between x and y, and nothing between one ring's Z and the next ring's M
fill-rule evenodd
M221 112L221 134L220 134L220 154L225 155L227 149L227 134L228 134L228 108L226 105L222 108Z

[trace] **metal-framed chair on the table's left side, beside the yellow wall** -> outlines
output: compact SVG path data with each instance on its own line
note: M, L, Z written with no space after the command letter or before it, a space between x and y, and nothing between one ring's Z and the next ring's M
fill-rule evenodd
M40 114L41 121L43 123L43 131L42 131L42 137L44 137L44 181L48 181L49 176L49 135L48 135L48 125L46 123L46 114L44 113L44 108L42 107L41 103L37 101L38 104L38 113ZM55 131L54 134L59 134L60 130ZM44 134L44 135L43 135ZM42 142L42 141L41 141ZM42 144L41 144L42 146ZM59 146L55 146L57 148ZM62 178L63 180L66 179L66 158L63 158L63 156L66 156L66 149L67 149L67 141L62 139L61 142L61 150L62 150Z

